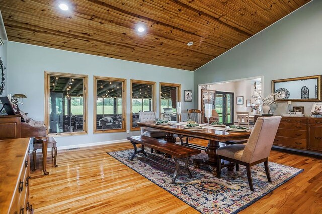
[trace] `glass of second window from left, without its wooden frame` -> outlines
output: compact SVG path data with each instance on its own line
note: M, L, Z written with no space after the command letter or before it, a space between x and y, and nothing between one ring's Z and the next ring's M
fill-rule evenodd
M123 129L123 81L96 80L96 131Z

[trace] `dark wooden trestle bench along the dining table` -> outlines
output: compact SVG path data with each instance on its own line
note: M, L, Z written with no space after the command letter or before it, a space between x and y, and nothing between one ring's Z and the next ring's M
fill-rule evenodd
M144 151L144 146L148 146L152 149L169 154L174 159L176 168L174 169L175 173L174 173L172 181L171 181L172 184L176 183L176 178L178 176L179 171L181 171L181 170L186 170L189 178L192 178L191 172L189 170L188 162L189 162L190 157L192 155L199 154L201 152L200 150L181 146L181 145L178 145L175 143L171 143L171 142L167 142L167 141L164 141L161 139L151 138L151 137L147 137L147 136L143 136L143 135L127 137L127 139L131 141L131 144L134 147L134 152L133 152L132 156L129 158L129 160L132 161L136 154L142 153L143 155L141 155L141 156L143 156L151 161L154 161L160 165L163 165L167 168L173 169L167 165L159 163L159 162L151 159L150 157L148 157L147 153ZM137 150L136 144L142 145L141 150ZM159 158L159 157L152 155L152 154L149 154L149 156ZM161 159L163 159L163 158L161 158ZM163 160L166 162L172 163L172 162L167 161L165 159L163 159ZM179 164L179 160L183 160L185 163L185 166L181 166Z

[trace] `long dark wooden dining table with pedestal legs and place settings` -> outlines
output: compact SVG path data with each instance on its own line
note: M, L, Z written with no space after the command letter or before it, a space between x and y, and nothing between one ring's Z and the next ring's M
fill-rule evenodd
M160 125L156 124L154 121L147 121L138 122L137 125L139 127L148 127L165 131L167 135L164 140L168 142L176 142L174 134L208 140L208 145L205 148L207 158L194 159L193 165L197 169L199 169L201 165L205 166L209 168L213 174L216 173L216 150L220 147L219 142L244 140L248 139L251 134L250 131L227 131L225 127L214 127L207 125L201 125L202 129L199 130L187 129L186 123L184 122L171 122L170 125Z

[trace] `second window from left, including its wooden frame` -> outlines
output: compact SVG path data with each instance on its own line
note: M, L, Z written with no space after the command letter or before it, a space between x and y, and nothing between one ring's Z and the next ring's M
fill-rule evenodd
M94 76L93 132L126 131L126 79Z

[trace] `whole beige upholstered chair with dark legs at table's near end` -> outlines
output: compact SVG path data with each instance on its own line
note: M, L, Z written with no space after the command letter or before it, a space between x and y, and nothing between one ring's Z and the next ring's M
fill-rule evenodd
M281 121L281 116L259 117L256 120L252 133L246 144L233 144L218 148L217 151L217 177L221 177L221 161L224 159L236 164L246 166L247 179L251 191L254 191L251 166L264 162L268 182L272 182L268 167L268 156Z

